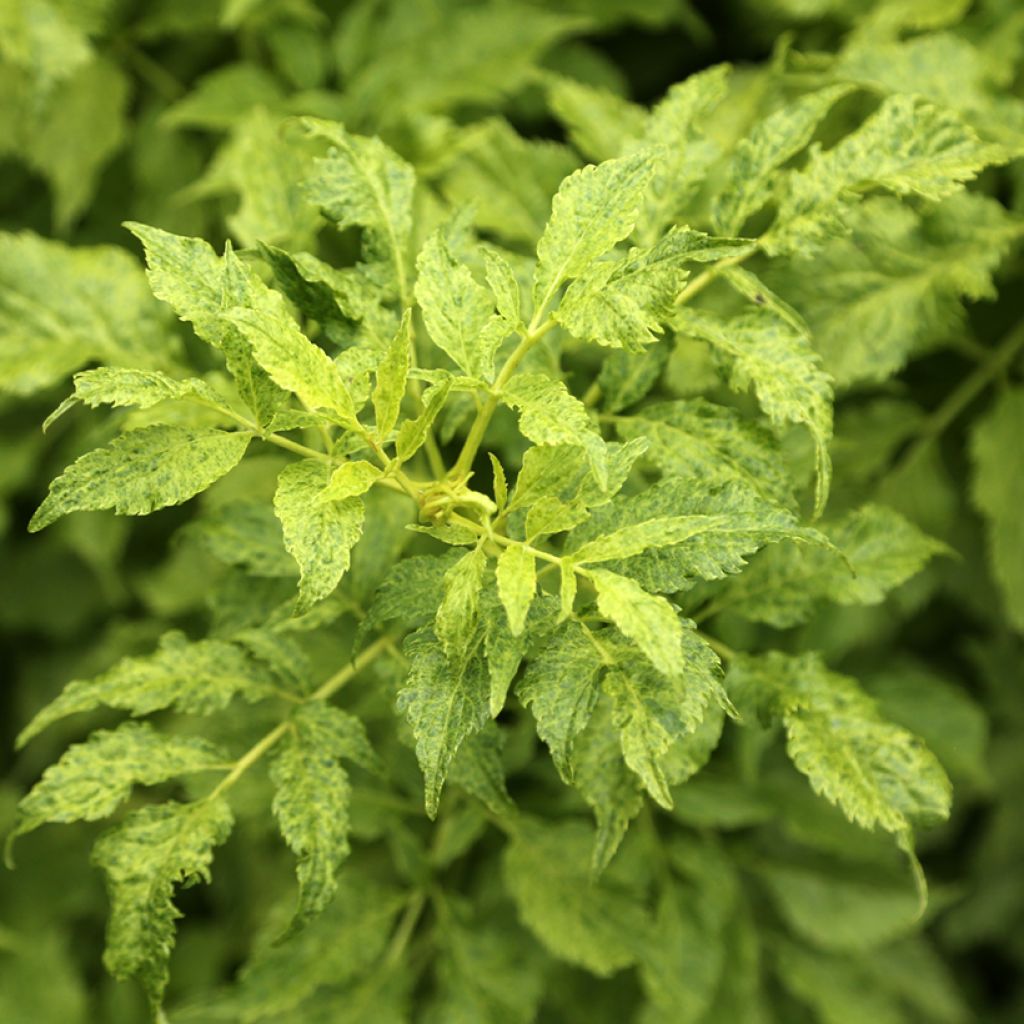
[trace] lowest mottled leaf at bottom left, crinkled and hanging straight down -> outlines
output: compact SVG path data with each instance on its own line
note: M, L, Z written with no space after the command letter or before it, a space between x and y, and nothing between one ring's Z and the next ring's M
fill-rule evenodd
M103 964L116 978L138 976L155 1010L181 916L171 901L174 888L210 881L213 848L232 823L224 800L159 804L134 811L93 847L111 899Z

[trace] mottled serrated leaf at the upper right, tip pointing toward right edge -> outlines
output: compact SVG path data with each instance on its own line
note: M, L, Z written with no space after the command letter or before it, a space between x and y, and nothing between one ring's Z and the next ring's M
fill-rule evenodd
M1007 159L982 142L956 114L907 95L889 96L856 131L785 180L775 225L762 245L769 254L812 253L844 231L851 199L867 188L937 201L979 171Z

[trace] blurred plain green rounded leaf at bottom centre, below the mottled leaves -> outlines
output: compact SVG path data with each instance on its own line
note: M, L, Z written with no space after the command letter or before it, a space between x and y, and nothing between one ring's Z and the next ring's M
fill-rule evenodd
M650 923L638 899L591 882L591 845L572 822L523 826L505 848L505 883L553 955L607 977L640 955Z

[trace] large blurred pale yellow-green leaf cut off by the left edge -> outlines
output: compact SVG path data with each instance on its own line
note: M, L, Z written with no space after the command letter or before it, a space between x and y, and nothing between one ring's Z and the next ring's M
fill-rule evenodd
M166 369L173 352L160 304L124 250L0 232L0 391L32 394L92 359Z

